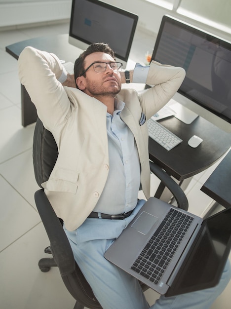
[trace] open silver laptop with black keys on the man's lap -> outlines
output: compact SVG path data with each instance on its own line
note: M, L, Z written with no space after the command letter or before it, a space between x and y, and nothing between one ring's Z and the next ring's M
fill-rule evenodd
M205 220L151 197L105 258L156 292L215 286L231 249L231 208Z

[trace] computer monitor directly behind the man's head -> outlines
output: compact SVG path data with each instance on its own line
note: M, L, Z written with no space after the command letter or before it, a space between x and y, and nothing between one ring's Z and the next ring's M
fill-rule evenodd
M73 0L69 43L80 49L104 42L125 69L138 16L98 0Z

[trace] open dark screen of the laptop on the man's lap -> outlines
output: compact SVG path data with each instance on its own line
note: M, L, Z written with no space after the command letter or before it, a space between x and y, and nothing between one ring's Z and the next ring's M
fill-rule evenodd
M219 282L230 253L231 208L205 219L202 228L165 296L213 287Z

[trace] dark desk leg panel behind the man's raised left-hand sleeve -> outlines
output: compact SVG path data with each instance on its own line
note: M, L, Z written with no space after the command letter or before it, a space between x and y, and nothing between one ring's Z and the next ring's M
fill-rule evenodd
M22 125L25 127L36 122L38 116L35 105L31 102L31 98L26 88L21 85L21 102L22 102Z

